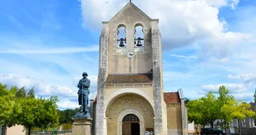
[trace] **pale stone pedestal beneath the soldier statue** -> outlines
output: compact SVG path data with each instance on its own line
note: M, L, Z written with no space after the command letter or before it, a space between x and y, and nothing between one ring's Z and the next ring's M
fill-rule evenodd
M73 120L72 135L91 135L91 118Z

